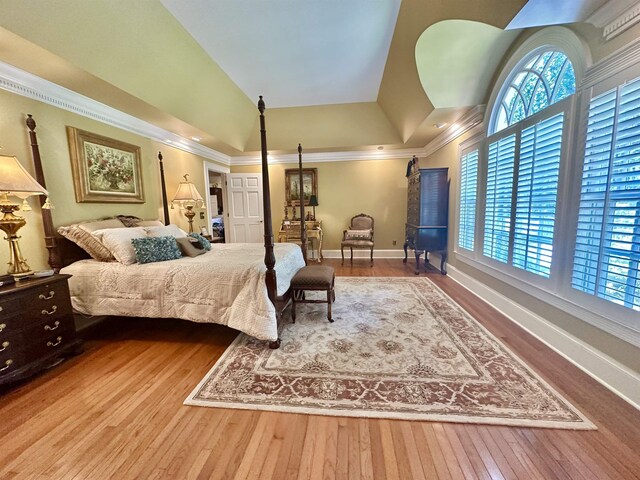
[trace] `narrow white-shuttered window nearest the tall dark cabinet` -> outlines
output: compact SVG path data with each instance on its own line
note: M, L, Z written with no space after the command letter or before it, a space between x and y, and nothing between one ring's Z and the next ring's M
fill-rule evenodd
M458 246L473 250L476 228L476 199L478 195L478 149L460 159L460 220Z

